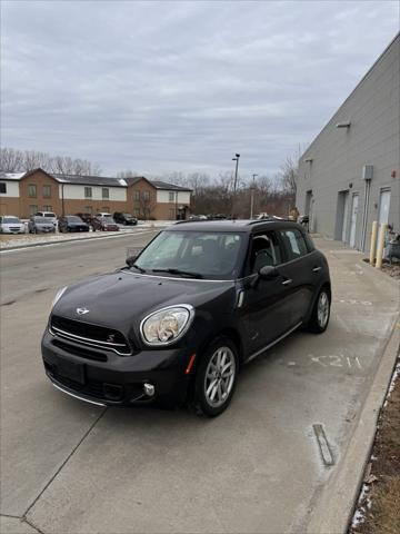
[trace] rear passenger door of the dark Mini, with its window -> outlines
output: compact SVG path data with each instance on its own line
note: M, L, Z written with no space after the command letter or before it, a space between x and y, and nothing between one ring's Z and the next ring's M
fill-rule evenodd
M294 327L309 310L321 268L314 265L317 256L309 250L300 229L282 228L278 230L278 236L286 253L286 260L279 266L279 273L284 278L284 310L290 317L290 326Z

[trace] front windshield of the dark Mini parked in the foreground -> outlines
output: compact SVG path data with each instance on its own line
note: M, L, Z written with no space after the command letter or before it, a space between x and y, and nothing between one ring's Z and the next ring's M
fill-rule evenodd
M131 267L151 274L232 279L239 274L241 234L223 231L162 231Z

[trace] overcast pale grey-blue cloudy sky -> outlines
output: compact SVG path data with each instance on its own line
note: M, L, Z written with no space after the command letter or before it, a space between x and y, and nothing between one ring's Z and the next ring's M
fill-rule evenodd
M397 1L2 1L2 146L274 174L394 37Z

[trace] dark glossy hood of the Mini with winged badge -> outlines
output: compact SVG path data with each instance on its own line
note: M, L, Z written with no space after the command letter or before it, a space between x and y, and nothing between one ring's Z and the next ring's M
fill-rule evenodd
M68 287L52 313L62 317L116 328L129 334L139 330L140 322L166 306L190 304L212 309L212 300L230 295L233 301L234 281L196 280L146 276L118 271L98 276ZM86 308L84 315L78 308Z

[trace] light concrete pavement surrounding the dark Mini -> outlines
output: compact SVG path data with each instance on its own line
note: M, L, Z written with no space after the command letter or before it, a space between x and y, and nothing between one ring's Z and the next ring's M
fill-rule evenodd
M398 284L318 239L328 330L294 333L246 366L216 419L56 390L40 338L57 288L122 266L153 235L1 253L1 532L300 533L316 520L397 320Z

